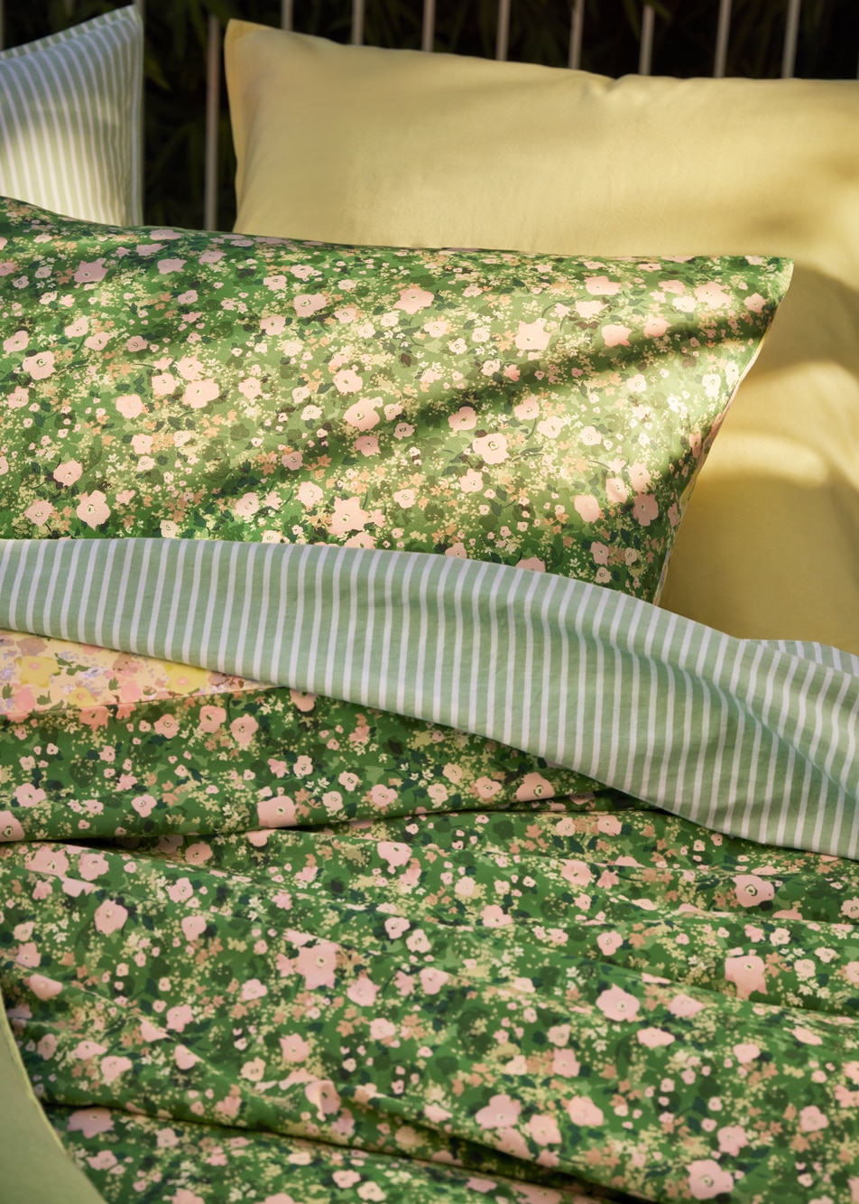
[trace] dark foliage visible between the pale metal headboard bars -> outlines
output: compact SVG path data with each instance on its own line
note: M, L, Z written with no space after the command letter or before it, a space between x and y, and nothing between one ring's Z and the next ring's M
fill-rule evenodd
M657 10L653 72L712 73L718 0L652 0ZM781 72L788 0L734 0L728 75ZM14 46L99 13L114 0L36 0L6 6L6 45ZM420 46L422 0L366 0L365 41ZM565 66L571 0L513 0L510 58ZM279 0L148 0L146 42L146 220L202 225L206 30L243 17L277 25ZM295 28L349 40L350 0L294 0ZM492 57L497 0L437 0L436 49ZM620 76L638 66L641 0L586 0L582 67ZM855 78L857 0L804 0L796 73ZM218 225L235 219L235 158L221 88Z

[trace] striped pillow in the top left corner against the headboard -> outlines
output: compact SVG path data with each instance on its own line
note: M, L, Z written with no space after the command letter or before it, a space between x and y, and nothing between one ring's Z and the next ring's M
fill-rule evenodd
M135 5L0 53L0 193L140 223L142 79Z

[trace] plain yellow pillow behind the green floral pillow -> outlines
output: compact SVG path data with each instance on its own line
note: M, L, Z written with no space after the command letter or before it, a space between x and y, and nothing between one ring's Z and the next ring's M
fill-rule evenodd
M248 234L795 260L662 603L859 653L859 83L608 79L232 22Z

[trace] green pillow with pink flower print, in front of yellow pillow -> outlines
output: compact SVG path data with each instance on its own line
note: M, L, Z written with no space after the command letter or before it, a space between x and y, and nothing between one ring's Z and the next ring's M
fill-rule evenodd
M408 548L654 598L778 259L118 230L0 202L0 535Z

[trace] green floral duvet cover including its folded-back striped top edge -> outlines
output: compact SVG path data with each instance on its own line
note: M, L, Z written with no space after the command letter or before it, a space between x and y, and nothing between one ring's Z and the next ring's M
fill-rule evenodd
M123 543L0 577L0 984L106 1200L859 1200L851 657Z

